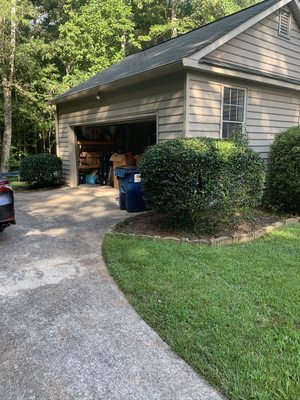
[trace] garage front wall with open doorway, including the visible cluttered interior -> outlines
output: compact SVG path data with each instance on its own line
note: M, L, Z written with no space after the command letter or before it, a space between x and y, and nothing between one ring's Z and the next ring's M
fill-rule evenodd
M77 186L98 171L100 183L113 185L114 164L138 163L148 146L182 137L183 87L183 73L166 71L146 81L118 81L117 87L115 81L89 81L53 100L65 183Z

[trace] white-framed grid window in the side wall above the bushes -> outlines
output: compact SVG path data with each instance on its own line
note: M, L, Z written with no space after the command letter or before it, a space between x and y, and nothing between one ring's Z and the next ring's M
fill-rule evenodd
M242 128L245 122L244 89L224 87L222 138L228 138L236 129Z

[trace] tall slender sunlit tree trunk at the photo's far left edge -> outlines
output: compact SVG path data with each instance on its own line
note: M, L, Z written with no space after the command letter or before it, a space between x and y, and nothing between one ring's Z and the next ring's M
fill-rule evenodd
M2 139L2 154L0 171L7 171L7 161L9 159L11 138L12 138L12 85L15 71L16 55L16 0L11 2L11 21L10 21L10 51L8 56L7 77L2 79L3 85L3 106L4 106L4 133Z

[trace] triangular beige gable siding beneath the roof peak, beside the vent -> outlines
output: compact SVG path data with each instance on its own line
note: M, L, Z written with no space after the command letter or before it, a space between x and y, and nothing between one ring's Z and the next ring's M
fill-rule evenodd
M290 39L278 35L279 11L211 52L217 61L300 80L300 30L292 17Z

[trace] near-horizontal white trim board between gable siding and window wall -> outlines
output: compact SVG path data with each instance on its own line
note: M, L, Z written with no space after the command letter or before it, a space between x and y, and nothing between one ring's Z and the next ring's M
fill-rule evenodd
M188 69L197 70L199 72L207 72L225 76L228 78L244 79L247 81L257 82L260 84L267 84L267 85L277 86L280 88L297 90L298 92L300 91L300 85L297 85L296 83L279 81L277 79L268 78L265 76L249 74L247 72L235 71L213 65L199 64L198 61L189 60L188 58L184 59L184 66Z

